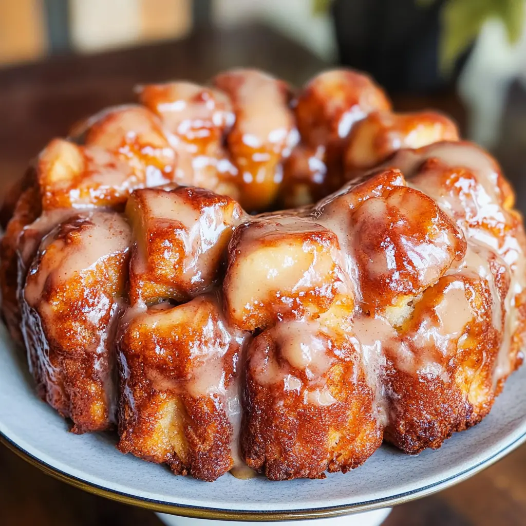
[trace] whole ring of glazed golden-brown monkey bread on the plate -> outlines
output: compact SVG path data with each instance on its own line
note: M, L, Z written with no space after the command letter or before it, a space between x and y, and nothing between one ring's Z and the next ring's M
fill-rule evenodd
M489 413L526 343L491 156L345 70L138 98L50 141L0 212L4 319L74 432L206 481L316 479Z

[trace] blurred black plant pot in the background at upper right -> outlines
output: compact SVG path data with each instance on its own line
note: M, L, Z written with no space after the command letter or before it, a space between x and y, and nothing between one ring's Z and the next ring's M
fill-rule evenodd
M342 65L369 72L390 93L450 89L471 51L452 73L439 70L440 9L444 0L335 0L332 17Z

